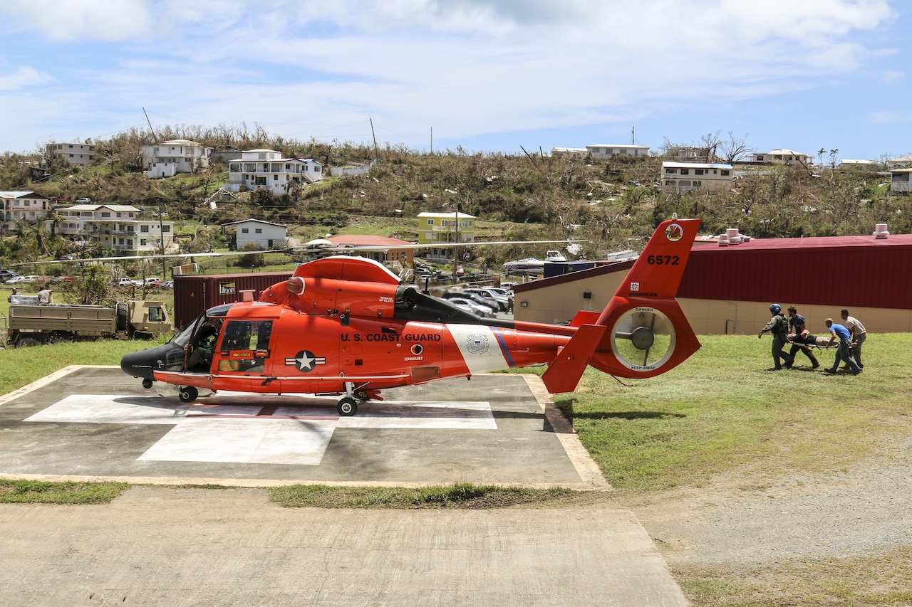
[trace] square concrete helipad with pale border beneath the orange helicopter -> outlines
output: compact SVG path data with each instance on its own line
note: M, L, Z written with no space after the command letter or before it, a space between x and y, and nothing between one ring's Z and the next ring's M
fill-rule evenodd
M605 488L536 376L387 390L339 417L336 397L217 393L184 404L118 367L67 367L0 400L0 476L134 482Z

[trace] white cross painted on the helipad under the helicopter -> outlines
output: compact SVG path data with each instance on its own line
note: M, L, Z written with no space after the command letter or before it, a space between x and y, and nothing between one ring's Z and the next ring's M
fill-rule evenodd
M146 461L311 466L320 463L337 427L497 429L483 401L371 401L357 416L338 417L335 401L326 399L222 392L188 404L161 396L71 395L25 421L174 426L140 456Z

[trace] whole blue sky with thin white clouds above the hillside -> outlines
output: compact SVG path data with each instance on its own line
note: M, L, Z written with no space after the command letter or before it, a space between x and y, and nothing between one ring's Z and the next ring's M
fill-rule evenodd
M905 0L4 0L0 150L154 126L436 151L912 153ZM829 154L824 157L828 160Z

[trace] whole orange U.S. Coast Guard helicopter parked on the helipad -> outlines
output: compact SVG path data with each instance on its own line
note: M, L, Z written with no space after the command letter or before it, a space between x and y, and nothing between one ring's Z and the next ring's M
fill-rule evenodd
M385 388L547 364L544 386L572 392L591 365L612 376L652 377L700 348L675 295L700 220L658 226L604 311L568 325L482 318L405 284L383 265L333 256L287 281L210 308L168 344L125 355L120 367L200 389L342 396L340 416L382 400Z

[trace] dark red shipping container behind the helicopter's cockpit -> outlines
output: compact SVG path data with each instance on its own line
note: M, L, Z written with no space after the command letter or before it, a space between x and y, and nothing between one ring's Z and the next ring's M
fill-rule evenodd
M291 278L289 272L213 274L174 277L174 326L185 327L213 305L241 301L242 291L260 292Z

